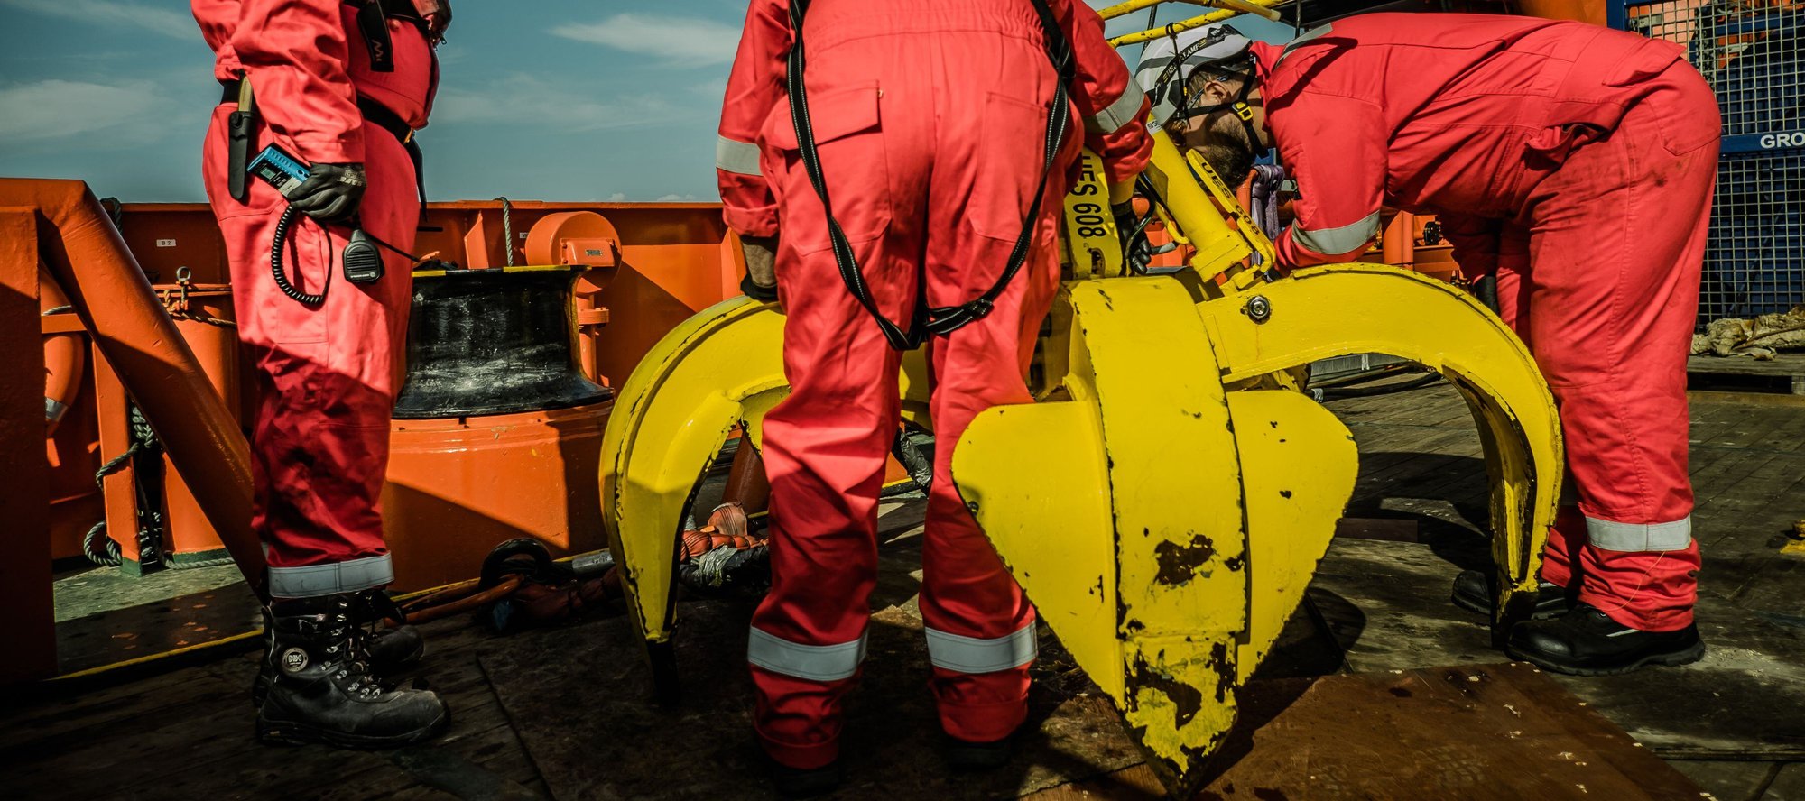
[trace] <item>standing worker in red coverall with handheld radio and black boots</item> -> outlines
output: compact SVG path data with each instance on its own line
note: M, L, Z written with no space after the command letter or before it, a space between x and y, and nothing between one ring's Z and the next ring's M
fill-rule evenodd
M384 677L419 658L412 628L370 635L393 579L377 494L401 375L412 262L352 283L352 231L413 247L421 197L412 128L426 124L442 0L193 0L226 87L202 152L208 200L226 238L238 337L255 364L253 525L269 557L269 648L253 700L258 736L384 747L430 738L437 695ZM249 103L245 103L249 101ZM310 166L283 197L245 179L276 144ZM271 272L278 220L287 296Z

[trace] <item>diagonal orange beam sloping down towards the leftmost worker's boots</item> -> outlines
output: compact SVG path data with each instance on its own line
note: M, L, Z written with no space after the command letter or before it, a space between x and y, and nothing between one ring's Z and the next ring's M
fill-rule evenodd
M99 200L81 180L0 179L0 206L38 209L51 274L195 489L244 579L267 599L264 548L251 532L249 444Z

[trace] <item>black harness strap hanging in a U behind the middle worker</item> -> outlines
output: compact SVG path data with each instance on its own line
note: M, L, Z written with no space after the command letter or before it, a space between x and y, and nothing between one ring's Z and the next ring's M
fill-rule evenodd
M1072 43L1060 29L1060 20L1052 14L1052 9L1047 7L1045 0L1031 2L1034 4L1034 11L1040 13L1047 56L1052 60L1054 72L1058 72L1058 83L1052 92L1052 108L1047 114L1045 159L1040 170L1040 186L1034 189L1034 200L1029 204L1027 220L1022 224L1022 235L1016 236L1014 249L1009 251L1009 262L1004 265L1004 272L996 278L996 283L991 285L991 289L957 307L924 308L926 303L917 301L915 319L910 323L908 330L902 330L902 327L890 321L890 318L877 308L877 301L872 299L870 287L865 283L865 274L859 271L859 260L852 253L852 244L847 240L845 231L841 231L839 222L834 218L834 206L827 197L827 177L821 171L821 153L814 143L814 123L809 117L809 97L803 87L807 60L801 43L801 22L803 14L809 11L809 0L791 0L791 34L794 36L794 45L791 45L785 79L789 85L791 123L796 126L796 146L801 155L803 170L809 173L809 182L814 184L814 193L821 198L821 209L827 213L827 236L834 249L834 262L839 265L839 278L845 281L847 290L852 292L852 298L865 307L874 321L877 321L877 328L884 334L884 339L892 348L913 350L928 336L946 336L975 319L984 319L984 316L991 314L991 308L995 308L996 298L1009 289L1009 281L1022 271L1022 263L1027 260L1027 253L1034 244L1034 233L1040 227L1040 202L1047 193L1047 180L1052 173L1054 161L1058 161L1060 144L1065 141L1065 132L1072 123L1067 87L1072 83L1076 63L1072 58Z

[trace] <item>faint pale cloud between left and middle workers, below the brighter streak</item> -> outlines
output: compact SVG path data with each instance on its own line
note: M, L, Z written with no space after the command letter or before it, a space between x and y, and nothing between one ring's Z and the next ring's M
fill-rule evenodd
M560 132L675 121L704 124L715 114L713 108L679 106L653 94L603 97L588 83L567 88L529 74L513 74L484 87L448 85L433 101L433 124L532 123L540 130Z

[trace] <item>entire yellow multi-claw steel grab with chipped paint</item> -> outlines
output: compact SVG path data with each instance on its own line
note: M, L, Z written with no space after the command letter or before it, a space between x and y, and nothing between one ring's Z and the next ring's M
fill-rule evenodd
M1466 292L1379 265L1274 280L1271 242L1208 164L1155 135L1148 171L1191 247L1168 276L1114 278L1108 226L1074 189L1072 272L1043 337L1040 404L980 413L953 480L1041 619L1115 702L1168 787L1195 790L1235 695L1296 610L1354 487L1354 437L1294 372L1390 354L1440 372L1478 420L1500 604L1527 617L1563 473L1554 400L1527 348ZM1096 233L1096 231L1092 231ZM1105 278L1108 276L1108 278ZM783 318L745 298L666 336L621 388L603 438L603 520L661 696L684 507L727 431L785 393ZM904 417L930 424L926 368L902 364ZM946 447L946 446L942 446Z

